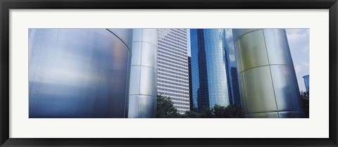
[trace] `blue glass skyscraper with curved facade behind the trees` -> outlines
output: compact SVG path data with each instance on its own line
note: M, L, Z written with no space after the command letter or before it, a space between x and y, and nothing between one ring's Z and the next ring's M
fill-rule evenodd
M225 30L190 30L194 110L230 104Z

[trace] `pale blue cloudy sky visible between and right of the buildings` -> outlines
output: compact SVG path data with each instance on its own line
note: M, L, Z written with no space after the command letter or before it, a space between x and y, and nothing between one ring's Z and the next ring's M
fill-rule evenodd
M304 75L309 75L309 29L286 29L287 40L291 51L292 60L294 61L294 70L299 85L299 91L306 91L303 81ZM188 56L190 51L190 31L188 30Z

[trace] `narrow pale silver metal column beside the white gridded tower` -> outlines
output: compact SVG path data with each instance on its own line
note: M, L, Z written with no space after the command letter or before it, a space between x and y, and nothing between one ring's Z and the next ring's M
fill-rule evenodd
M157 87L157 30L134 29L130 72L130 118L155 117Z

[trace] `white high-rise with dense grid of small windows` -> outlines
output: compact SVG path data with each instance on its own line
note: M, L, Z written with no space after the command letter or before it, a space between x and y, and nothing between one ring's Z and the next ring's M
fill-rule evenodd
M190 110L187 48L187 29L158 29L157 92L181 114Z

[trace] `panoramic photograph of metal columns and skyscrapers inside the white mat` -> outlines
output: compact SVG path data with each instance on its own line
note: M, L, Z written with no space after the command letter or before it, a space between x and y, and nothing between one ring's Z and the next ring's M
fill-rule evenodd
M309 38L308 28L29 28L29 118L309 118Z

